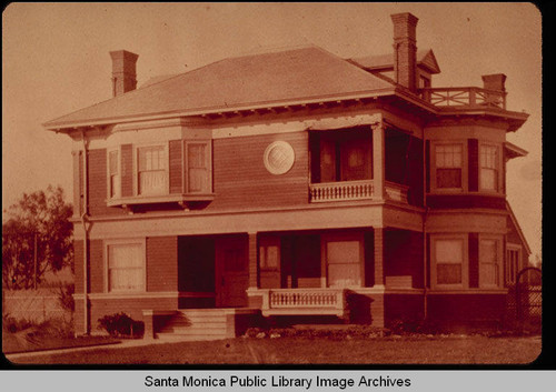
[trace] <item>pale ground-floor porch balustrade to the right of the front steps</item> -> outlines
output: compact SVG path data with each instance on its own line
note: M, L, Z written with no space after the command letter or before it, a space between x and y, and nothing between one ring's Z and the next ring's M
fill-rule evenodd
M334 314L344 316L345 289L268 289L262 294L262 314Z

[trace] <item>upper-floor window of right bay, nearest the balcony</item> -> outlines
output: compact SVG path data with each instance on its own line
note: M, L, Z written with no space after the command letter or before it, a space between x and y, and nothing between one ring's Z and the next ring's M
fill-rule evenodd
M436 188L461 189L463 144L436 144Z

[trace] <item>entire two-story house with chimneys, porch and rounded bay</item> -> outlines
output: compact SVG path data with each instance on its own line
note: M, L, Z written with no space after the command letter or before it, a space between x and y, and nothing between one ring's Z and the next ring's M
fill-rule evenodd
M111 52L113 98L44 124L75 141L76 333L120 311L148 335L178 310L206 334L222 314L228 334L254 314L499 321L530 253L505 180L527 114L504 74L434 87L417 18L391 20L389 54L309 46L139 89L138 56Z

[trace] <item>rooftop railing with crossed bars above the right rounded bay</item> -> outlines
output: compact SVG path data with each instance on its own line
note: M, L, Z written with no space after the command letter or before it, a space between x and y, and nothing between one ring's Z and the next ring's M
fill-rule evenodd
M454 109L506 109L506 92L478 87L427 88L419 90L420 98L436 107Z

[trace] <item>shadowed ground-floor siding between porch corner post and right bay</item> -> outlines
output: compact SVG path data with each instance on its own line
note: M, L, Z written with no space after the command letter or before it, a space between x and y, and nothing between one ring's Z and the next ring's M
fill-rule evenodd
M413 278L423 288L423 234L406 230L385 231L385 275Z

